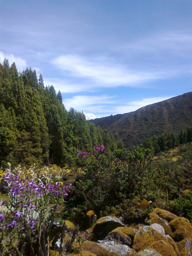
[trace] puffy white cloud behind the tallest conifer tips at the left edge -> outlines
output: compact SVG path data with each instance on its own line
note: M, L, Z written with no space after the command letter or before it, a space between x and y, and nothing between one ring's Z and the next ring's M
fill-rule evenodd
M26 60L24 60L24 59L22 59L20 57L15 57L13 54L5 54L5 53L0 51L1 63L3 62L4 59L8 59L10 65L13 62L15 62L18 71L23 71L23 70L25 70L27 68Z

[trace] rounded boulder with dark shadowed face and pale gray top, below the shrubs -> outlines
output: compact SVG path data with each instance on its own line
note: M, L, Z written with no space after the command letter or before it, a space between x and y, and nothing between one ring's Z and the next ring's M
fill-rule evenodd
M95 238L103 240L109 232L117 227L125 227L125 225L117 217L102 217L95 223L93 227L93 235Z

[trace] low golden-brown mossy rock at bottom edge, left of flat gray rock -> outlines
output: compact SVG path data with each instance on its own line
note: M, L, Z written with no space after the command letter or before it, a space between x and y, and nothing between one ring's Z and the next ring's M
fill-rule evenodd
M102 247L99 243L85 241L81 247L81 250L93 253L96 256L118 256L115 252L110 252L106 248Z

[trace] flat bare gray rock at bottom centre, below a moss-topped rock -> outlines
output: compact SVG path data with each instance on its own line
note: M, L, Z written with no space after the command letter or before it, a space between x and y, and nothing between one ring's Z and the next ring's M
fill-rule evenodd
M116 252L119 256L124 256L129 253L130 255L134 252L128 245L116 244L115 241L98 241L100 245L111 252Z

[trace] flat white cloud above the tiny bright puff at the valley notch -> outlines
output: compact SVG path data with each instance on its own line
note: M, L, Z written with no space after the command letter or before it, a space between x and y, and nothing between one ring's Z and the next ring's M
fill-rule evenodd
M100 104L103 104L102 108L105 109L105 104L114 104L115 101L112 100L114 96L86 96L86 95L78 95L74 96L70 99L63 99L63 104L67 110L70 109L70 107L74 108L77 111L86 111L91 112L90 110L96 110L98 109L98 106ZM99 107L100 108L100 107Z

